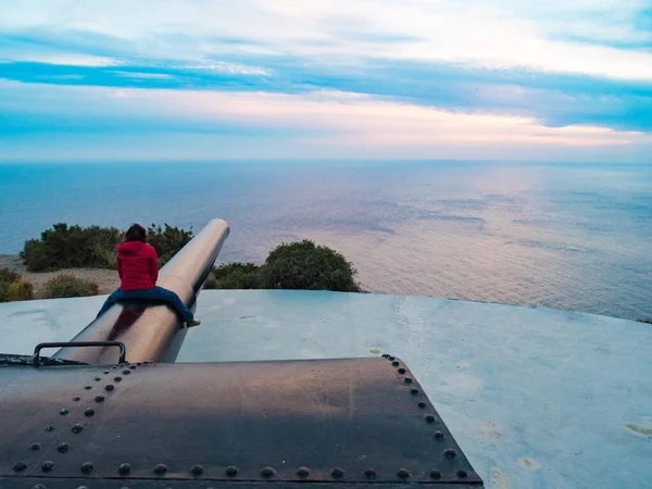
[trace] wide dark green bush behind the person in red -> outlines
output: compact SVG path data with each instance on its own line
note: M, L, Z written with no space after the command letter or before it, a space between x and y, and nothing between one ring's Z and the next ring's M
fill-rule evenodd
M148 241L156 250L159 266L163 266L190 239L192 229L167 224L165 227L152 224L148 229ZM122 240L123 233L115 227L59 223L42 231L39 239L26 241L21 258L30 272L76 267L115 269L116 247Z

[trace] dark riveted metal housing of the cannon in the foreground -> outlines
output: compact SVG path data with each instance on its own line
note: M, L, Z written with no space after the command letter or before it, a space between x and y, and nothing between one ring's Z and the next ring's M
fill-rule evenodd
M481 486L399 359L5 367L0 386L3 488Z

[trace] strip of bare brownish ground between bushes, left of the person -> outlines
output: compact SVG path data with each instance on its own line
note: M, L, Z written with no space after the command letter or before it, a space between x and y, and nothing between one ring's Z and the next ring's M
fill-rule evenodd
M20 273L25 280L34 284L34 298L43 299L46 284L52 277L61 274L72 274L84 280L95 281L100 293L111 293L120 285L117 272L104 268L66 268L59 272L27 272L16 254L0 254L0 267L10 268Z

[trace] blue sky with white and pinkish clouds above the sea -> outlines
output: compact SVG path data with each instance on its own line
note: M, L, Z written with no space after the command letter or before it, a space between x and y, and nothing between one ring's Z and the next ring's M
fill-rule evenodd
M0 0L0 161L652 163L650 0Z

